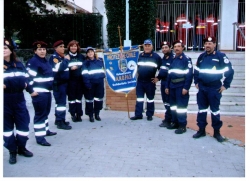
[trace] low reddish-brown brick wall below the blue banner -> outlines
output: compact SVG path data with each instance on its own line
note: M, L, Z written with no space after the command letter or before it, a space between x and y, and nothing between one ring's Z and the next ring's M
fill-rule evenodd
M129 94L128 97L126 98L126 94L124 93L117 93L113 91L107 81L105 81L106 84L106 107L111 109L111 110L116 110L116 111L128 111L129 107L129 112L133 113L135 111L135 103L136 103L136 94L135 94L135 89L132 90ZM128 101L127 101L128 100ZM127 104L129 106L127 106Z

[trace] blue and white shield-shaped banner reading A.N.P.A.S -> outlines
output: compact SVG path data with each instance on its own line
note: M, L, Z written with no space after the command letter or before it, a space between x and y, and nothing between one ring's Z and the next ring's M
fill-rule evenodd
M109 49L108 51L104 52L108 85L115 92L128 94L136 87L139 49L124 47L122 52L119 49Z

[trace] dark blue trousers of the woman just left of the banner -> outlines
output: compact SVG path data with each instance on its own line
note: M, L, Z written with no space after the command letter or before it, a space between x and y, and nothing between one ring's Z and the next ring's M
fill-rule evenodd
M99 114L103 108L104 97L104 81L103 79L98 83L91 83L92 88L86 89L85 97L85 114L93 116Z

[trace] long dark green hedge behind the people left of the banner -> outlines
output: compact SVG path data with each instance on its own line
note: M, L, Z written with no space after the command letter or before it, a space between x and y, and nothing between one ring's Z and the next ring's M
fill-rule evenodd
M20 48L31 48L36 40L45 41L52 47L60 39L65 46L73 39L79 41L81 47L103 45L100 14L36 15L31 22L19 32Z

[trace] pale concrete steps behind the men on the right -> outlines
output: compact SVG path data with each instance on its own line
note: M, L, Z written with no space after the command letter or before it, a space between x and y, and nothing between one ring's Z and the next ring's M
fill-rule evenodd
M224 52L231 61L234 68L234 79L231 87L222 93L220 111L221 115L245 116L245 52ZM196 64L200 52L185 52L192 59L193 65ZM163 54L160 54L163 56ZM198 105L196 102L197 89L192 83L188 113L197 113ZM165 112L165 107L161 100L160 82L156 86L155 112Z

